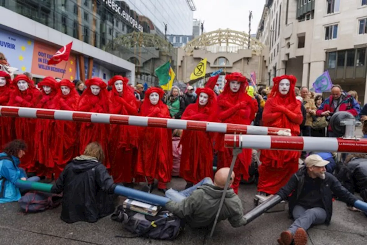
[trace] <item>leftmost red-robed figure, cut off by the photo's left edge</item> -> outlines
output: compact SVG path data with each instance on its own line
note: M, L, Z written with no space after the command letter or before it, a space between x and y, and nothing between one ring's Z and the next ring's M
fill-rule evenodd
M10 100L10 94L13 91L11 89L11 78L6 72L0 71L0 105L7 105ZM3 151L3 147L8 142L14 140L14 118L1 116L0 117L0 151Z

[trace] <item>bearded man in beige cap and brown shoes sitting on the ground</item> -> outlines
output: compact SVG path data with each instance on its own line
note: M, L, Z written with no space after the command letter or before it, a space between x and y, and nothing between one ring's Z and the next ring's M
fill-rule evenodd
M282 187L277 195L282 199L289 195L289 214L294 218L288 230L280 234L280 245L307 244L306 231L315 224L329 224L333 213L333 193L348 206L357 198L344 188L335 176L326 172L328 164L319 155L309 155L302 167Z

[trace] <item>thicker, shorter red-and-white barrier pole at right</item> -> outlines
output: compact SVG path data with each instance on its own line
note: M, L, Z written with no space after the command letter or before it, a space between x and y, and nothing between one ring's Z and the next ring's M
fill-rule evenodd
M367 139L226 134L225 147L367 153Z

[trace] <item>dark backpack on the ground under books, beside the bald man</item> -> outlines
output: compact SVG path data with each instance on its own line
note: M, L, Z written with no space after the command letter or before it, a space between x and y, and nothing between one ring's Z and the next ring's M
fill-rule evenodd
M167 210L160 210L156 216L150 216L124 209L123 205L117 207L111 219L123 223L126 230L135 234L132 237L116 236L123 238L146 237L173 240L181 234L185 226L183 220Z

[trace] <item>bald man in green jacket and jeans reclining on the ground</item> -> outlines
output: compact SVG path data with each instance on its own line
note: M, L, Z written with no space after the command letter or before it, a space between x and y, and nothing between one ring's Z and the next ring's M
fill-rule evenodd
M206 177L186 190L180 192L173 189L167 190L166 197L171 199L166 204L167 210L181 219L185 218L190 227L212 226L229 171L229 167L219 169L215 173L214 183L211 178ZM232 185L234 179L235 173L232 171L229 186ZM232 227L240 227L246 224L246 220L243 218L241 200L232 188L228 188L226 191L218 222L226 219Z

